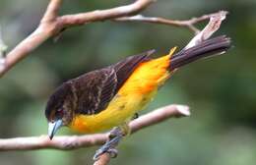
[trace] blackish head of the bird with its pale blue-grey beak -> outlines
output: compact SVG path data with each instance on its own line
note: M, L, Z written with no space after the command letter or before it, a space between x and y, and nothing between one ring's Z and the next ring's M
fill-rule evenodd
M50 139L61 127L68 126L72 122L73 107L74 99L71 85L63 83L50 96L45 109Z

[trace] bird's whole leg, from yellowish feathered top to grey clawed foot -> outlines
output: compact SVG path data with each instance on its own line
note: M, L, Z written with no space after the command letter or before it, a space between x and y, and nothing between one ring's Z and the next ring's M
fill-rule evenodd
M116 146L123 137L129 134L130 128L127 123L122 126L113 128L109 133L107 141L99 149L96 150L94 160L97 160L98 157L105 152L109 153L113 158L116 157L118 153Z

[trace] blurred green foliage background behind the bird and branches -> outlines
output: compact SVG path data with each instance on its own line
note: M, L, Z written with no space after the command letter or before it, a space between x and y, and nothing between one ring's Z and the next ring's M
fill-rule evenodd
M47 2L1 0L0 24L10 48L32 32ZM131 2L65 0L61 14ZM229 15L218 33L229 35L233 48L224 56L181 69L144 111L179 103L189 105L192 116L171 119L126 138L111 164L255 164L256 1L159 0L143 14L183 20L221 9ZM141 23L103 22L69 28L58 42L48 40L0 80L0 138L46 135L45 103L60 83L148 49L157 48L160 56L172 46L184 46L192 36L183 27ZM64 129L59 135L63 134L71 133ZM92 164L95 150L1 152L0 162Z

